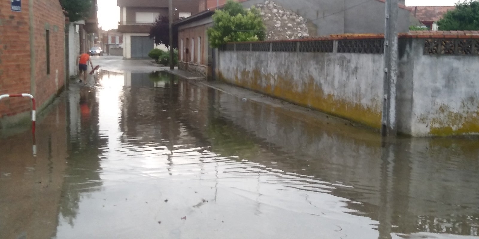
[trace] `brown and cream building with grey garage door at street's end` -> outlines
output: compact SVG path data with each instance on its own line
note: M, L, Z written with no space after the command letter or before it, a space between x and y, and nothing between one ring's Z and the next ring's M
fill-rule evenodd
M117 0L120 7L118 32L123 34L123 57L146 58L155 48L148 37L159 15L168 16L168 0ZM199 0L174 0L173 19L186 18L199 10Z

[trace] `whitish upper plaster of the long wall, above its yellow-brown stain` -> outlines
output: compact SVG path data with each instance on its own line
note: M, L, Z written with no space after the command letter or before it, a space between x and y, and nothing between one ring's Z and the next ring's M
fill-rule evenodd
M359 104L375 112L382 111L382 54L286 53L286 52L220 52L219 71L224 79L254 84L241 72L260 71L262 87L276 87L278 78L290 78L297 94L306 94L312 79L314 90L322 90L335 100ZM308 99L308 106L315 103ZM331 109L334 112L335 109Z

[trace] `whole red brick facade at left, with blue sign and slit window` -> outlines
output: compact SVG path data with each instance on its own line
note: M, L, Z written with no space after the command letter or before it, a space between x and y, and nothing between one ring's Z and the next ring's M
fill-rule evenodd
M33 2L33 6L30 3ZM65 15L58 0L0 1L0 94L30 93L43 109L65 84ZM0 128L28 119L31 102L0 102Z

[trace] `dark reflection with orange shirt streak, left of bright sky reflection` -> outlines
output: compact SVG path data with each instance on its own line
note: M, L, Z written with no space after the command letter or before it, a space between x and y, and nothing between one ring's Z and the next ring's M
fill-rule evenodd
M101 190L99 154L106 145L98 127L97 92L90 87L70 86L68 92L68 167L61 191L60 219L74 226L81 198ZM61 224L60 224L61 225Z

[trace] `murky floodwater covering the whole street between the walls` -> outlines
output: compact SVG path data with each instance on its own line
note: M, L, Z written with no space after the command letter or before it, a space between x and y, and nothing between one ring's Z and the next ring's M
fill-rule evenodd
M383 144L234 90L72 83L40 117L36 157L29 130L0 134L0 238L477 238L478 139Z

